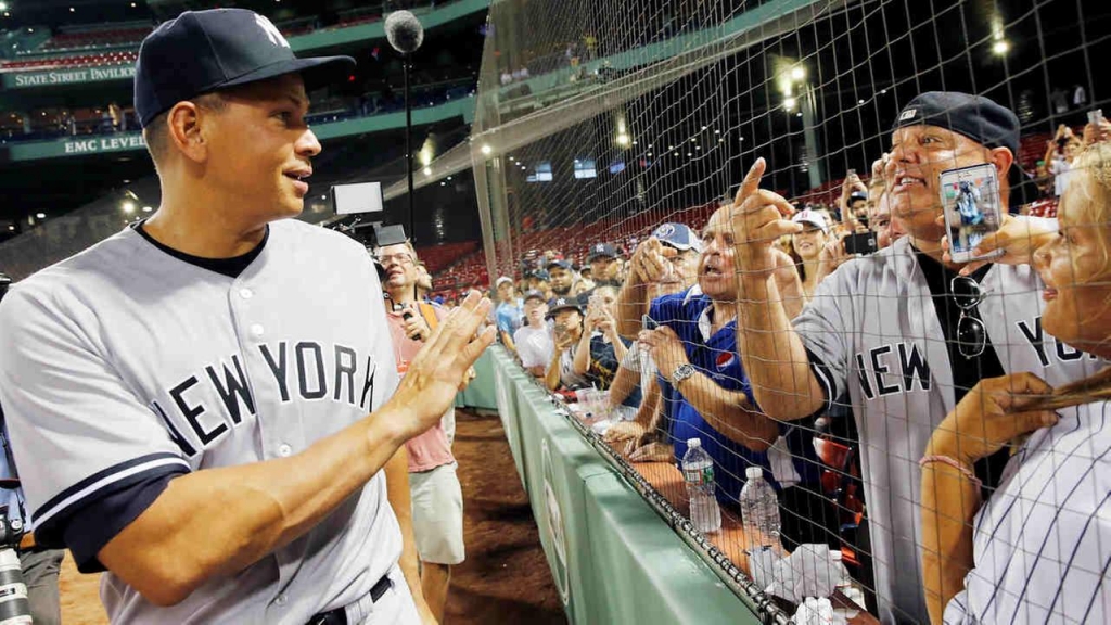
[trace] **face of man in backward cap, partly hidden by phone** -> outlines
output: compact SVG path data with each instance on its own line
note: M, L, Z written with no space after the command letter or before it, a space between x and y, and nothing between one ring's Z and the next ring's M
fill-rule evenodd
M891 135L891 159L884 169L891 216L907 232L940 241L941 172L989 162L990 150L972 139L937 126L908 126ZM1002 177L1000 177L1002 178Z

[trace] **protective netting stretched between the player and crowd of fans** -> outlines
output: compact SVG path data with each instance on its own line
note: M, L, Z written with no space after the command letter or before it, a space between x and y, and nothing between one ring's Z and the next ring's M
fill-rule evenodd
M1102 407L1027 439L1044 423L978 387L1104 364L1075 337L1105 310L1061 311L1062 284L1043 300L1029 248L1060 238L1030 216L1081 180L1102 190L1073 191L1092 209L1072 225L1107 227L1109 18L1077 0L494 2L471 141L441 165L474 163L503 341L712 528L704 459L685 485L675 469L699 438L721 515L705 539L788 612L835 595L884 622L1111 617ZM758 158L790 209L732 206ZM942 236L971 249L997 227L1005 264L942 258ZM752 467L778 530L741 495Z

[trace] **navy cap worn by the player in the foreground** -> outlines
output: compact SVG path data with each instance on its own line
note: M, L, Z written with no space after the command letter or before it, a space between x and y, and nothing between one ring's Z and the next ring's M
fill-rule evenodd
M281 31L247 9L186 11L143 39L136 63L136 113L143 128L182 100L300 72L306 91L342 80L351 57L299 59Z

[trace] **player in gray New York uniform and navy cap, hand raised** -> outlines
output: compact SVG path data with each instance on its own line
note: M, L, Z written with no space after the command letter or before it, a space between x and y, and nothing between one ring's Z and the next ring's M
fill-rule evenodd
M247 10L161 24L136 73L158 211L0 306L36 536L107 569L113 623L421 621L387 474L406 484L390 459L491 343L490 304L471 294L399 384L366 250L288 219L321 150L306 93L352 62L297 59Z

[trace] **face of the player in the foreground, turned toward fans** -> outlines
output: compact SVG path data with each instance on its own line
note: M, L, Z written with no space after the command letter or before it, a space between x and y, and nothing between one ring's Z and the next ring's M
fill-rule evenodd
M206 178L234 206L262 220L300 215L320 142L304 116L309 98L296 73L227 93L227 107L208 119Z

